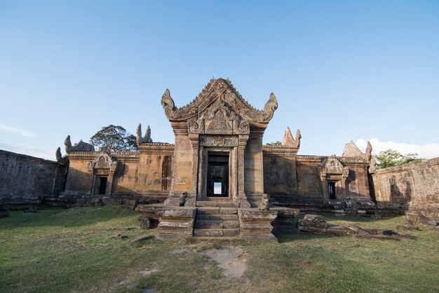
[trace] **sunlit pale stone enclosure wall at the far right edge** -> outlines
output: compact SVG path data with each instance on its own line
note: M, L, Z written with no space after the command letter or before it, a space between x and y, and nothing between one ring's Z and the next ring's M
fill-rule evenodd
M439 218L439 158L377 170L372 182L378 205Z

